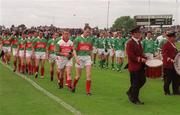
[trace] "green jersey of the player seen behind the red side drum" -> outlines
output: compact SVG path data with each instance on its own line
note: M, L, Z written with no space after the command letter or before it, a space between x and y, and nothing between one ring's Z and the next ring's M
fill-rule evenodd
M155 53L157 51L157 44L156 42L151 38L145 38L141 41L142 47L144 50L144 53Z

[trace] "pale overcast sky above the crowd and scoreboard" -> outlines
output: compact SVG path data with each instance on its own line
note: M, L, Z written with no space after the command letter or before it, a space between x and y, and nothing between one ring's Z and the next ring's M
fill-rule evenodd
M120 16L148 14L173 14L173 24L180 24L180 0L109 1L109 27ZM105 28L107 11L108 0L0 0L0 25Z

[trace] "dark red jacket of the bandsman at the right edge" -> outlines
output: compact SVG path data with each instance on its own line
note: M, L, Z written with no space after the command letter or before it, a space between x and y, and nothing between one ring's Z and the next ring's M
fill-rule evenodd
M174 68L174 64L170 59L174 60L176 54L177 54L176 48L173 47L173 45L169 41L163 45L162 55L163 55L163 67L164 68L167 68L167 69Z

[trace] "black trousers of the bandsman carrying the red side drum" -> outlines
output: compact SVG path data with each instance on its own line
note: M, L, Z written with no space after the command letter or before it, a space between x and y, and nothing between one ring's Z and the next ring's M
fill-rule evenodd
M139 91L146 82L145 71L142 69L130 72L130 82L131 86L128 93L131 95L133 101L139 101Z

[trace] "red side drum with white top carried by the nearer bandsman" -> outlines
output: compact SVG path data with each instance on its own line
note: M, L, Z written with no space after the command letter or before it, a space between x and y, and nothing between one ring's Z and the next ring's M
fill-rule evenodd
M146 76L148 78L159 78L162 76L163 62L159 59L151 59L146 62Z

